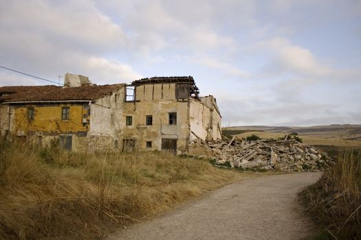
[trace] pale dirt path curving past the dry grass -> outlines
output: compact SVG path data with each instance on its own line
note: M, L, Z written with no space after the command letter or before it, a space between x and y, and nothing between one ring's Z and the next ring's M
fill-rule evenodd
M320 175L295 173L230 184L109 239L301 239L311 225L300 213L296 194Z

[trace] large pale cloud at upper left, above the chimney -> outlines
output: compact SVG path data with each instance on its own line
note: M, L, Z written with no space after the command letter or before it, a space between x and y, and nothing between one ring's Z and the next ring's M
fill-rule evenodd
M127 36L90 1L8 1L0 8L0 35L1 64L25 73L58 79L71 72L96 83L142 77L129 64L105 57L127 49ZM1 84L14 82L13 76L2 76Z

